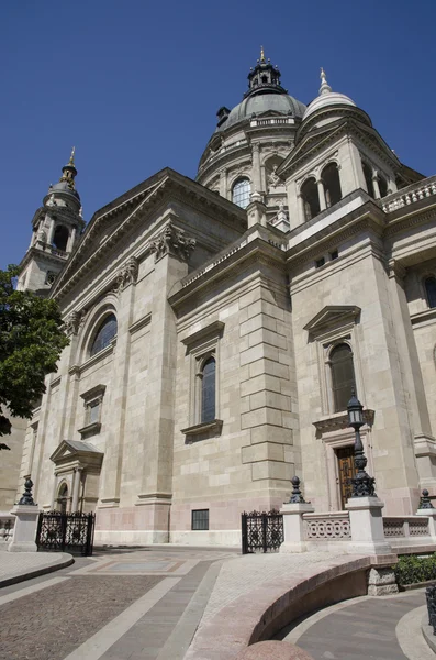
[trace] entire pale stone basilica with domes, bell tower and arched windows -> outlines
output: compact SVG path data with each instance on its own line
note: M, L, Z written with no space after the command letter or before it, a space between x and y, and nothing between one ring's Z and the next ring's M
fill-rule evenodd
M342 510L353 388L384 514L436 494L436 177L323 70L305 106L261 52L195 180L161 169L86 223L76 176L72 153L19 280L70 339L24 441L42 509L96 512L99 543L237 544L298 474Z

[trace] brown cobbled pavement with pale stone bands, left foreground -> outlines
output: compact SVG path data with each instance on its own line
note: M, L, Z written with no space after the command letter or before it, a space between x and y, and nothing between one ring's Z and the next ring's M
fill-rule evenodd
M2 660L178 660L234 551L107 551L0 590ZM200 590L201 591L201 590Z

